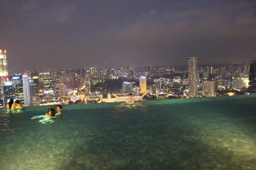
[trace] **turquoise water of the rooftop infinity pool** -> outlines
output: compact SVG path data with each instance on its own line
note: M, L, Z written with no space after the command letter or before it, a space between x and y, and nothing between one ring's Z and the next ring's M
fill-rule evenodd
M256 169L256 95L0 110L0 169ZM54 106L55 107L55 106Z

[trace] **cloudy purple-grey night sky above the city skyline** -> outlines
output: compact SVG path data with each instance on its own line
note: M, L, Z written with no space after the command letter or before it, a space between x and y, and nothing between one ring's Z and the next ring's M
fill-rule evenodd
M250 63L256 1L0 0L8 70Z

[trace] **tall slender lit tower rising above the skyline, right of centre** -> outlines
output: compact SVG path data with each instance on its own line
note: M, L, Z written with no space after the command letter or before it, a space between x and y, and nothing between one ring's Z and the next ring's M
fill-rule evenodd
M189 97L196 97L198 90L197 58L188 58Z

